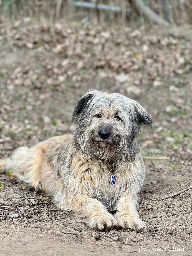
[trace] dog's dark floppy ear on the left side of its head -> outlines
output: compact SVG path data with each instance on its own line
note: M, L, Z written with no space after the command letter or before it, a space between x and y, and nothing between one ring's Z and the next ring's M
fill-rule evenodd
M73 121L77 119L77 116L82 112L82 110L87 106L89 100L99 92L97 90L90 90L85 93L77 102L74 111L73 111Z

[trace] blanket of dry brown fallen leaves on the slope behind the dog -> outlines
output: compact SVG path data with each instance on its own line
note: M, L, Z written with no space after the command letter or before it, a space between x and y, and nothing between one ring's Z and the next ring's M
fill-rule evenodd
M6 63L0 70L0 154L73 132L72 109L90 88L143 100L156 119L155 129L161 128L156 137L150 134L142 139L144 149L164 149L166 144L184 152L181 143L166 133L170 124L180 127L178 120L189 127L190 80L186 75L192 66L191 39L187 34L155 29L120 30L65 22L23 25L19 21L2 26L0 32L11 54L2 51ZM189 137L183 145L190 154Z

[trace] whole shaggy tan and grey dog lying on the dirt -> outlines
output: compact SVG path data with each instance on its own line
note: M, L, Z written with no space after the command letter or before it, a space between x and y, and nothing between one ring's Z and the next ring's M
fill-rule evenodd
M12 171L32 186L41 182L60 209L85 214L92 228L143 228L137 213L145 178L139 137L140 124L152 126L148 112L121 94L91 90L77 102L73 120L73 135L18 148L0 160L0 172Z

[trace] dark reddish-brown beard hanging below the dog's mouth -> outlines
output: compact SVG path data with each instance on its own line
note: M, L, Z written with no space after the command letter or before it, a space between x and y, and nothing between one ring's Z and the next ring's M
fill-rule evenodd
M118 151L120 143L116 141L115 143L107 142L107 141L96 141L91 140L93 154L99 160L110 160L114 158Z

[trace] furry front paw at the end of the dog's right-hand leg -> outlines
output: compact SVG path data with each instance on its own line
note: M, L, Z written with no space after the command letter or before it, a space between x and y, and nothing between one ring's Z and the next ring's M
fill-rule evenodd
M117 224L120 227L123 227L124 229L134 229L139 230L145 227L145 222L141 220L137 216L123 214L120 216L116 216Z

